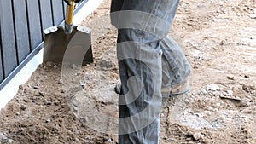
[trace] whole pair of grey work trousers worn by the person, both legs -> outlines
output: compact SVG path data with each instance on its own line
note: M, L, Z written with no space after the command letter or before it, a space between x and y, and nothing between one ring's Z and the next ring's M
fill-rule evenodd
M167 34L179 0L112 0L118 28L119 144L157 144L161 88L183 81L190 66Z

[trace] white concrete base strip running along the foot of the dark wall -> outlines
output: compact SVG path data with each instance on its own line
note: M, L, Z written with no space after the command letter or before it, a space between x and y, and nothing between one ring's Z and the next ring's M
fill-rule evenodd
M79 25L84 20L84 17L91 14L103 0L89 0L84 4L84 7L79 10L77 14L74 15L73 25ZM0 109L5 107L5 105L17 94L19 90L19 85L25 84L26 81L31 77L32 72L34 72L38 66L43 62L44 49L42 49L38 55L35 55L32 60L30 60L24 68L17 73L17 75L12 78L1 91L0 91Z

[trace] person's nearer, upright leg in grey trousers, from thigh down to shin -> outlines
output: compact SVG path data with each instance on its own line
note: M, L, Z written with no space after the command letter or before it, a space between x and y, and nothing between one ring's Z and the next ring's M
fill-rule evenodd
M121 20L118 22L131 21L135 27L113 24L119 28L117 53L122 94L125 94L124 96L121 94L119 98L119 143L121 144L158 143L162 79L160 47L161 40L166 37L172 24L178 2L178 0L124 0L120 10L142 11L146 15L138 14L142 16L139 17L142 18L141 21L132 20L133 16L137 17L137 15L131 16L132 14L128 14L131 17L119 17ZM129 85L129 79L133 77L138 81L130 81ZM141 88L139 93L137 93L138 88Z

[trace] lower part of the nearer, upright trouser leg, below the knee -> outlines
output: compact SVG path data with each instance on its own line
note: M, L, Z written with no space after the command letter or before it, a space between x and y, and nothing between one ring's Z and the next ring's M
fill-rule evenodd
M119 143L157 144L161 108L160 40L133 29L119 30L117 53L122 92L119 96Z

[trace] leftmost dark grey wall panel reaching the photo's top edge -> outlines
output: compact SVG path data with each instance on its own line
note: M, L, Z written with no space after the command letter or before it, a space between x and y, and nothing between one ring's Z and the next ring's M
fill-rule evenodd
M3 52L3 69L4 78L12 72L17 66L16 49L15 49L15 28L12 11L12 1L0 0L0 28L1 28L1 45Z

